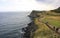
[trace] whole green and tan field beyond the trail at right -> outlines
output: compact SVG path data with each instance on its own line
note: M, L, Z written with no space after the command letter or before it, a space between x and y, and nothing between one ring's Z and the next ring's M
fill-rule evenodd
M43 19L44 22L48 21L51 25L60 27L60 16L46 16Z

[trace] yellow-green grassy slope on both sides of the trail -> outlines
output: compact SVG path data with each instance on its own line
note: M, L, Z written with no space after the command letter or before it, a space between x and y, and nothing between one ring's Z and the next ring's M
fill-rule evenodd
M35 18L35 24L38 26L38 29L34 32L34 38L60 38L60 36L49 29L45 24L38 20L39 18ZM51 25L56 27L60 27L60 16L51 16L45 15L44 19L41 21L46 22L48 21ZM56 35L56 36L55 36Z

